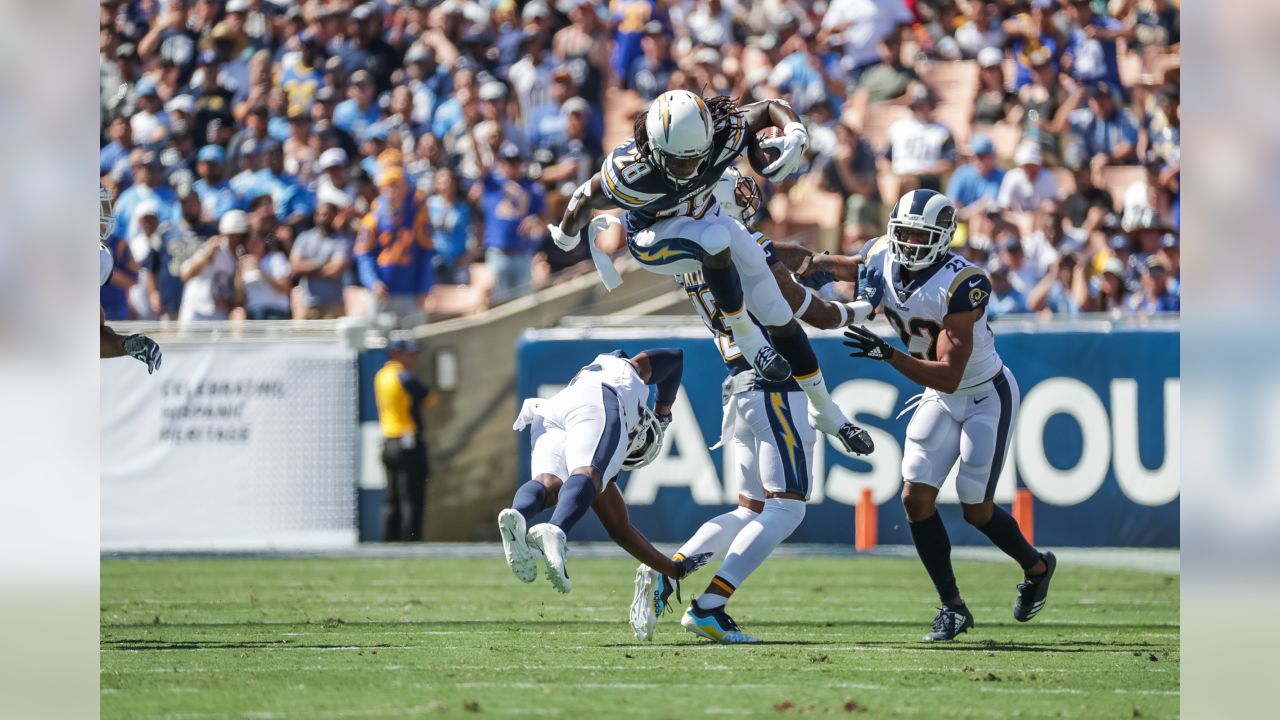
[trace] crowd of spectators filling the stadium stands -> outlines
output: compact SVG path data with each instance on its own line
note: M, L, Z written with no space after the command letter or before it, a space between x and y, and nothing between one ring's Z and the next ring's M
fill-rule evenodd
M1179 309L1178 0L101 0L109 319L404 322L589 272L545 225L668 88L804 115L846 252L961 208L993 315ZM888 205L888 206L887 206Z

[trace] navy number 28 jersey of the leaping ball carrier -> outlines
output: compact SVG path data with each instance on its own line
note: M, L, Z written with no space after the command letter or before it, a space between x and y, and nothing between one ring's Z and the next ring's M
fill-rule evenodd
M676 187L657 165L643 160L631 137L604 159L600 187L609 200L626 210L622 223L627 232L641 231L663 218L701 218L716 202L712 191L724 169L746 150L748 132L746 119L740 113L718 120L712 136L710 161L684 187Z

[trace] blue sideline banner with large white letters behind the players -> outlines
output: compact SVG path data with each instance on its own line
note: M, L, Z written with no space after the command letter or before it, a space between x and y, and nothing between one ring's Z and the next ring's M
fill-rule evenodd
M1097 325L1091 325L1097 327ZM1036 542L1044 546L1178 547L1179 334L1151 329L1032 332L996 328L996 346L1021 388L1023 401L996 501L1016 488L1036 496ZM879 506L879 542L909 544L900 464L910 415L897 418L920 388L883 363L852 360L835 333L810 332L837 404L876 441L869 457L852 457L819 434L815 478L795 542L852 543L854 506L870 488ZM534 331L517 346L516 409L548 396L599 352L680 347L685 374L675 420L652 465L623 475L632 520L650 539L678 542L736 503L724 469L731 457L708 447L719 437L724 365L703 328ZM520 480L529 473L524 433ZM952 478L955 469L952 469ZM952 542L989 544L964 523L954 482L940 496ZM608 539L589 515L575 537Z

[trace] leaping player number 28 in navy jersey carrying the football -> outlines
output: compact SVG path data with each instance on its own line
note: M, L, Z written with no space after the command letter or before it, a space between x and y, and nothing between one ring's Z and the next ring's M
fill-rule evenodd
M781 137L758 141L756 133L769 127L781 128ZM764 177L794 173L808 145L799 115L782 100L737 108L730 97L703 100L673 90L639 114L634 129L600 172L573 192L559 225L549 225L552 238L572 250L593 210L622 208L631 255L659 274L701 272L745 361L771 382L795 377L809 396L809 421L847 451L860 452L861 429L831 400L818 357L791 316L764 252L713 193L744 151ZM780 155L758 167L765 150ZM772 346L756 322L768 329Z

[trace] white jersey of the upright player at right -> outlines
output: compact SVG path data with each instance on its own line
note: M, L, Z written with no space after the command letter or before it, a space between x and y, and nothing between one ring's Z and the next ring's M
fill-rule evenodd
M897 331L908 351L922 360L937 360L942 322L951 313L982 309L973 327L973 352L960 379L960 391L993 378L1004 361L996 352L996 336L987 324L991 279L973 263L948 252L938 264L915 273L911 282L899 279L901 265L893 260L887 237L878 237L864 251L865 291L883 293L879 310Z

